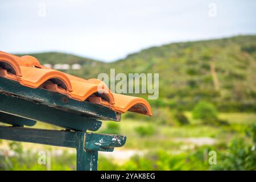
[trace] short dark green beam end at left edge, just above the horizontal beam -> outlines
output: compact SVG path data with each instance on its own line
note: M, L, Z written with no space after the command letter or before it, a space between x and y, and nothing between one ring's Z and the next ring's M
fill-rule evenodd
M0 112L0 122L7 123L13 126L34 126L36 121L26 118L20 118L15 115Z

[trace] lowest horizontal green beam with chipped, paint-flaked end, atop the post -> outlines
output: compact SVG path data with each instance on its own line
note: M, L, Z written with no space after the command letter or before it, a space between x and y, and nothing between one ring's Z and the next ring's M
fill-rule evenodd
M17 142L48 144L69 148L77 148L82 145L84 150L92 151L105 151L101 147L122 147L126 142L126 137L123 135L44 130L13 126L0 126L0 138Z

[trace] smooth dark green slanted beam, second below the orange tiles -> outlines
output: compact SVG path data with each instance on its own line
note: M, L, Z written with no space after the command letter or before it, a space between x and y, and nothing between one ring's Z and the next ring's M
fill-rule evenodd
M96 131L101 122L86 116L68 113L36 102L27 101L16 96L0 93L0 111L19 117L42 121L65 129L77 131Z

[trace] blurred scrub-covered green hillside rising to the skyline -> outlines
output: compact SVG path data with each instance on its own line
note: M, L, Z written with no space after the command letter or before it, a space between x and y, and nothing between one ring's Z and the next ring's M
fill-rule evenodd
M209 100L225 111L255 111L256 36L172 43L151 47L113 63L64 53L31 54L41 63L79 63L84 78L115 68L121 73L159 73L159 99L152 105L190 110Z

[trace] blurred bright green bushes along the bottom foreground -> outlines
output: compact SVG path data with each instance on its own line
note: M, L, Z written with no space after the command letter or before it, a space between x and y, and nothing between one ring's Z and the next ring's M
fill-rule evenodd
M118 165L112 159L100 156L100 170L255 170L256 151L255 135L256 125L248 127L247 137L235 137L228 146L217 144L204 145L194 150L187 150L172 154L172 152L159 148L147 152L143 156L134 155L126 162ZM141 131L139 135L145 137L148 134ZM254 137L254 138L253 138ZM246 139L249 141L246 142ZM152 147L152 146L151 146ZM154 147L154 146L153 146ZM170 146L171 147L171 146ZM2 170L46 170L46 165L38 164L38 155L30 150L24 152L22 145L11 142L10 149L15 151L14 156L1 155L0 169ZM209 165L208 152L217 150L217 164ZM51 170L74 170L76 155L63 154L51 158Z

